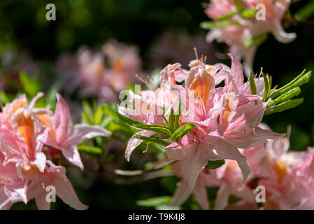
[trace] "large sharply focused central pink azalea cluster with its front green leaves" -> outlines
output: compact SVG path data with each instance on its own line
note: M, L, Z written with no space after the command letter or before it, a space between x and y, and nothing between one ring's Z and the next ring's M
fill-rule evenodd
M230 160L226 166L238 167L240 171L236 175L230 174L231 179L241 185L250 175L243 149L285 136L260 127L267 105L276 101L265 98L270 90L265 85L264 73L264 78L251 76L250 81L244 82L241 63L233 55L229 56L231 68L224 64L205 64L204 59L190 62L189 71L181 69L178 63L169 64L160 73L160 87L154 80L145 80L150 90L136 94L130 90L129 104L119 107L122 120L142 129L128 141L127 160L134 149L146 141L164 146L168 159L177 161L173 170L183 181L172 204L180 204L194 193L200 198L200 204L208 208L203 195L205 191L199 187L214 181L203 179L207 176L204 172L206 165L217 160ZM183 80L185 86L176 84ZM222 81L224 85L217 86ZM224 188L232 188L232 184ZM233 192L233 189L229 191ZM243 194L248 192L245 188ZM221 209L224 204L217 207Z

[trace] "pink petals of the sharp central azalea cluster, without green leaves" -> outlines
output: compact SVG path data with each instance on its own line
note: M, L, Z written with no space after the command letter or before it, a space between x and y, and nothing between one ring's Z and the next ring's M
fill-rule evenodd
M180 69L180 64L168 65L161 72L161 87L138 94L131 92L130 102L135 107L126 108L122 105L119 108L124 116L148 125L166 127L169 124L163 121L171 117L171 109L177 111L178 102L181 102L183 109L179 114L178 126L192 123L194 129L177 141L173 141L173 137L166 139L172 143L169 142L164 148L169 160L178 160L176 169L184 181L181 186L185 185L181 188L185 192L180 190L182 198L194 192L198 176L208 160L236 160L241 169L242 181L245 181L250 174L250 167L238 148L251 148L263 144L267 139L283 136L258 127L268 104L262 98L264 80L255 78L258 94L251 94L249 84L243 82L240 62L233 55L230 56L233 61L231 69L224 64L206 65L199 59L190 62L190 71L186 72ZM176 84L176 79L182 77L185 77L185 87ZM216 87L222 80L224 86ZM157 99L157 92L160 91L166 97ZM190 101L190 97L194 100ZM140 102L139 107L136 106L136 100ZM143 105L151 111L143 113ZM160 106L164 106L164 117L153 113L152 109ZM189 118L188 122L185 118ZM154 134L157 132L153 130L136 133L128 142L127 160L134 148L143 142L143 138L138 135L152 137Z

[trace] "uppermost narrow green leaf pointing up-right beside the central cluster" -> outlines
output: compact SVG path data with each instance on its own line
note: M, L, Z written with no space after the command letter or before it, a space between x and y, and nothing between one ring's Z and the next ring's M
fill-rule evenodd
M271 94L271 99L276 99L281 94L284 94L285 92L288 92L294 89L295 87L308 83L308 81L311 79L312 71L308 71L307 73L305 72L306 69L304 69L304 71L302 71L302 73L299 74L297 78L294 78L294 80L292 80L290 83L284 85L283 87L280 87L280 89L276 90L276 92L273 92L273 94Z

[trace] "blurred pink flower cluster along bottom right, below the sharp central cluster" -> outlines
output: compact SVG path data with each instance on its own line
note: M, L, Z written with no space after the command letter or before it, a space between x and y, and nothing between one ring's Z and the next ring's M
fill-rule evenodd
M208 209L206 187L219 187L214 209L313 209L313 148L303 152L288 152L289 139L269 140L265 144L243 151L251 168L248 179L241 182L241 169L234 160L217 169L204 168L199 174L193 195L203 209ZM180 176L178 165L173 165ZM257 199L258 186L264 190L264 201ZM183 181L170 205L183 203L188 196ZM229 197L237 202L229 204ZM259 206L257 202L263 202Z

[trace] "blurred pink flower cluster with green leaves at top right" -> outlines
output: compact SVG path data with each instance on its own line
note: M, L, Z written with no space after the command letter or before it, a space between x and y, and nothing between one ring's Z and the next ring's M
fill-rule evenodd
M281 25L290 0L210 0L205 13L213 22L202 26L210 29L206 40L222 41L230 46L230 52L244 59L247 76L257 51L269 33L280 43L290 43L296 34L287 34Z

